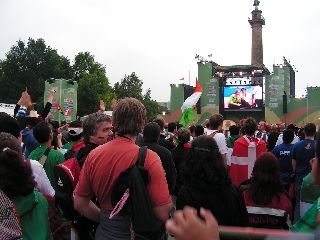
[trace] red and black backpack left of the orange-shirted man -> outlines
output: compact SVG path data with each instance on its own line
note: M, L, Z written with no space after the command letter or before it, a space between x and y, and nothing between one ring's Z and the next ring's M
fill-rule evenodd
M55 204L59 213L70 221L77 220L79 213L74 209L73 191L79 181L80 166L78 151L75 156L53 168L55 177Z

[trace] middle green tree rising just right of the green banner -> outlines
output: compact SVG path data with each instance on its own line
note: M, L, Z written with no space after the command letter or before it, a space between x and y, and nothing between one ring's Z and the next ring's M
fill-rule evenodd
M78 79L78 115L84 116L99 109L99 101L105 102L110 110L112 98L117 98L106 77L105 67L94 61L88 52L78 53L75 57L73 71Z

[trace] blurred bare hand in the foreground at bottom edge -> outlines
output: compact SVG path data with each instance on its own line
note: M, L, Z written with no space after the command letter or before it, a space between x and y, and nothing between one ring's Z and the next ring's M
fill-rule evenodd
M166 229L176 240L219 240L217 220L209 210L200 209L200 215L191 207L177 210L174 219L166 222Z

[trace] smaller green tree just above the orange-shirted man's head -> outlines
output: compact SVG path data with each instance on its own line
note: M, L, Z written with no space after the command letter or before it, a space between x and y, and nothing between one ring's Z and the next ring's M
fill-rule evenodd
M151 90L147 89L145 95L142 94L143 81L135 74L125 75L121 82L114 84L114 92L118 98L132 97L139 99L147 110L147 121L152 121L157 116L158 103L151 99Z

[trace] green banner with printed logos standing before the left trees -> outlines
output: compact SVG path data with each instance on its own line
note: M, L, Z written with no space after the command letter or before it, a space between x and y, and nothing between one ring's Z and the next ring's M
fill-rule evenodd
M54 83L45 82L44 98L48 99L50 89L54 88L56 93L53 96L51 114L54 116L54 120L61 122L66 120L67 122L74 121L77 117L77 90L78 83L73 82L73 85L68 83L66 79L55 79ZM59 111L61 108L62 113Z

